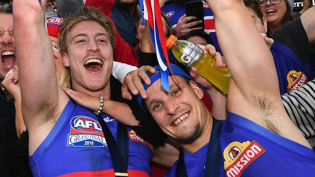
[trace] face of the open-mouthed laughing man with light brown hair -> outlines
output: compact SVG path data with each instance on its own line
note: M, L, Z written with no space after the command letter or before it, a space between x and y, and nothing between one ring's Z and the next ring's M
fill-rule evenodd
M104 89L113 64L110 38L104 27L95 21L80 22L70 30L66 45L63 65L70 67L73 88Z

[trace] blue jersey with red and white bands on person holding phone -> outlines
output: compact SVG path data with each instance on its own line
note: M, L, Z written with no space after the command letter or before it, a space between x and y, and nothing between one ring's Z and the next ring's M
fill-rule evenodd
M209 5L203 0L204 3L204 21L205 21L205 32L210 35L214 46L218 52L221 52L218 39L216 36L216 30L214 26L214 17L213 13L209 8ZM161 8L161 11L169 18L172 23L172 28L175 28L178 19L186 14L185 5L176 4L174 2L165 3Z

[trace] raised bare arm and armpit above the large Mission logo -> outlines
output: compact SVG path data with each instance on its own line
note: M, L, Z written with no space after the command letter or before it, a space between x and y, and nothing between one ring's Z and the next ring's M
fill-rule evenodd
M227 98L230 112L310 147L288 118L280 99L273 57L242 0L207 0L218 41L232 74ZM275 125L273 130L268 123Z

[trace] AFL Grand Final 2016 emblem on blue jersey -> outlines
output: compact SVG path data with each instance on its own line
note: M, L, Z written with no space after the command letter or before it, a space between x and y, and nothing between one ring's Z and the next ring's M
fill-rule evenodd
M70 121L67 146L104 147L107 146L102 128L97 120L86 116L76 116Z

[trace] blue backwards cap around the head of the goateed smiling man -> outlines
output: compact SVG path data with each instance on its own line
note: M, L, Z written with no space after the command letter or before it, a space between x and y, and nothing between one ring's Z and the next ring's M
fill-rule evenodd
M188 75L187 73L185 73L185 72L184 72L180 67L178 67L177 65L170 63L170 66L171 66L171 68L172 68L172 70L173 70L173 74L174 74L174 75L181 75L181 76L184 76L184 77L188 78L189 80L195 81L190 75ZM159 65L155 66L154 69L159 70L159 69L160 69L160 68L159 68ZM165 73L167 73L167 75L172 75L172 73L171 73L171 71L170 71L169 68L167 68L167 70L166 70ZM157 81L157 80L160 79L160 78L161 78L161 73L160 73L160 72L157 72L157 73L153 74L152 76L150 76L151 84L153 84L155 81ZM204 92L206 93L207 97L209 98L208 100L210 100L210 102L211 102L210 105L211 105L211 107L212 107L212 101L211 101L210 95L209 95L208 92L205 90L205 88L203 88L203 87L202 87L201 85L199 85L199 84L198 84L198 86L204 90ZM144 88L145 90L147 90L149 87L150 87L150 85L146 85L145 83L143 83L143 88ZM142 107L142 100L143 100L143 99L142 99L141 95L138 94L137 101L138 101L140 107L142 108L142 110L144 110L144 108ZM210 108L210 109L211 109L211 108Z

